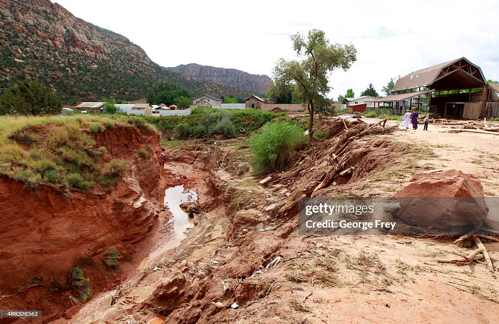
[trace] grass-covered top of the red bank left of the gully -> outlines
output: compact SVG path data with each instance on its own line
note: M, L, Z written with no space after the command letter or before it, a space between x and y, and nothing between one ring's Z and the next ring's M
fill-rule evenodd
M112 188L126 173L128 162L100 162L106 148L94 148L91 133L117 125L155 131L138 117L77 115L0 118L0 176L24 183L34 193L40 185L68 194L96 183Z

